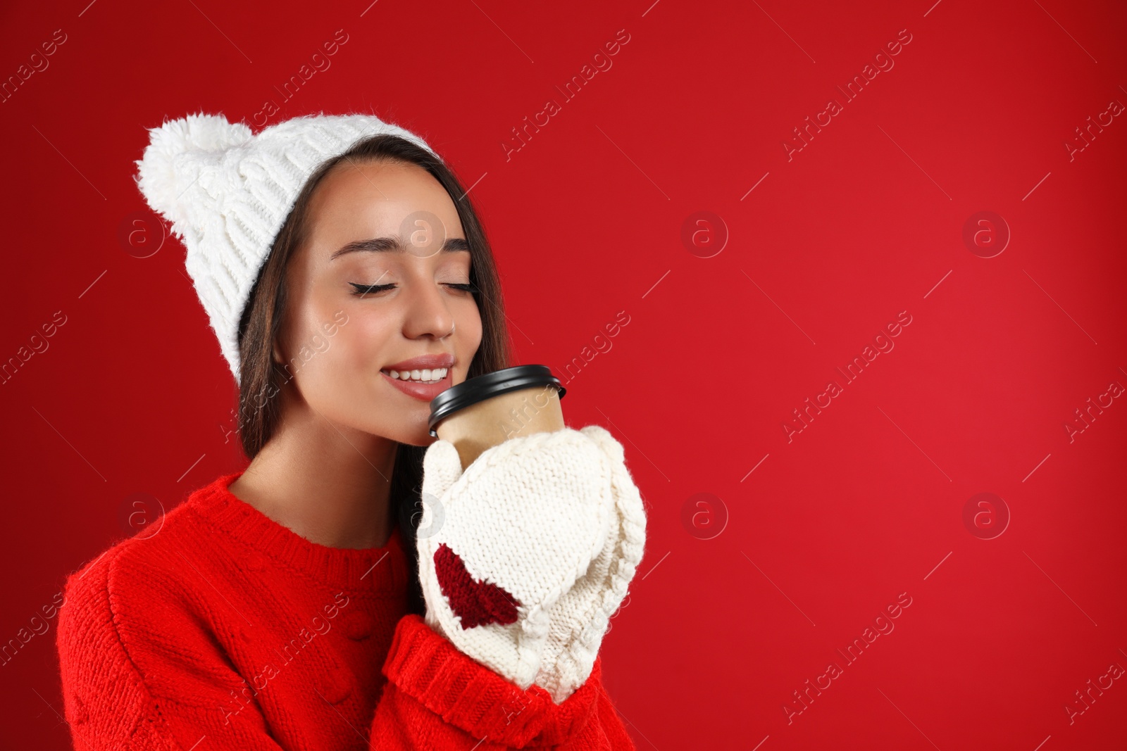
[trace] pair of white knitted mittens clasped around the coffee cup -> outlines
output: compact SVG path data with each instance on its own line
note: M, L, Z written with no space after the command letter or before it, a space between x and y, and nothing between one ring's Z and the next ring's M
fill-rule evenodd
M598 426L564 428L505 440L462 472L438 440L424 456L423 501L426 623L565 701L591 673L645 547L622 446Z

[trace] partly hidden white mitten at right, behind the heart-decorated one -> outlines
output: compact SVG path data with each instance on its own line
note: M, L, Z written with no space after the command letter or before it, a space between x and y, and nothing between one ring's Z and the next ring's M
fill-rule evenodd
M610 618L627 594L646 546L646 510L625 466L622 445L600 426L580 432L607 459L611 531L597 557L549 611L551 626L535 683L561 704L591 674Z

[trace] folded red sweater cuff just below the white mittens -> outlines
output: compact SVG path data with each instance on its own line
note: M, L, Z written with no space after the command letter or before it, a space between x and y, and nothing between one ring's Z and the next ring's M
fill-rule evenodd
M399 619L383 674L400 691L476 739L509 746L566 743L593 716L602 673L591 676L562 704L540 686L522 689L460 652L423 616Z

